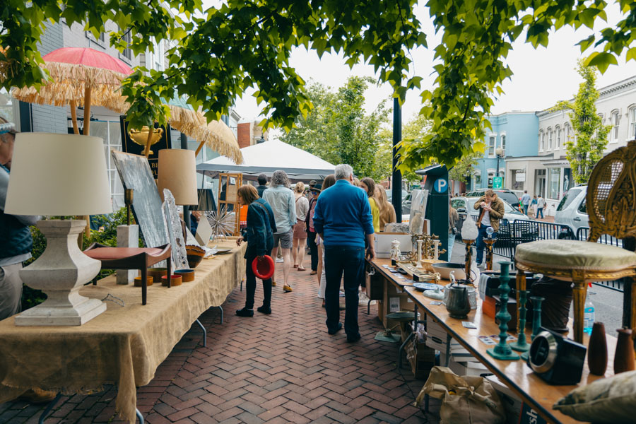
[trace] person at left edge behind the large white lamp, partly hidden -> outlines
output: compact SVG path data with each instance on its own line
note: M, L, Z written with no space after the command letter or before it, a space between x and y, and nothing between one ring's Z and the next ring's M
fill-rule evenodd
M16 126L0 117L0 320L22 310L19 271L23 261L30 259L33 249L29 226L35 225L40 219L39 216L4 213L16 132ZM52 401L55 396L53 391L36 388L25 391L19 399L40 404Z

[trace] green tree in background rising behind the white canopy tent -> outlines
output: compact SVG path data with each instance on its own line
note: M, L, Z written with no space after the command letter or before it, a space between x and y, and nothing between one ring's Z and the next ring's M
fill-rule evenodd
M355 175L384 179L391 172L391 152L387 160L382 132L387 110L380 103L365 113L365 90L370 83L375 80L351 76L335 93L322 84L310 84L307 94L312 110L299 117L281 140L328 162L348 163Z

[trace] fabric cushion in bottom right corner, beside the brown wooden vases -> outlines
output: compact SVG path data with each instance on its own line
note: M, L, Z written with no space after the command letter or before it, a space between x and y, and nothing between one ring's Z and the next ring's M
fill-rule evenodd
M577 387L553 408L575 420L592 423L633 423L636 416L636 371L621 372Z

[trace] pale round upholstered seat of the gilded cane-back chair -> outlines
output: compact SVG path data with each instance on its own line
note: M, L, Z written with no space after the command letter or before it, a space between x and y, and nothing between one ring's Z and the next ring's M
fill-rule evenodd
M636 253L578 240L538 240L517 245L514 260L553 269L618 271L636 266Z

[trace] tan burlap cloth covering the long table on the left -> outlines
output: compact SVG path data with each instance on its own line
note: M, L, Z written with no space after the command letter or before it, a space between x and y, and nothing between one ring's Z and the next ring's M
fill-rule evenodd
M136 387L151 382L155 370L194 321L209 307L220 306L245 275L244 243L218 243L232 252L204 259L196 279L177 287L141 288L117 285L114 276L80 290L89 298L108 294L125 306L105 302L108 309L82 326L15 326L0 321L0 403L33 387L62 394L99 391L117 384L115 406L122 418L135 422Z

